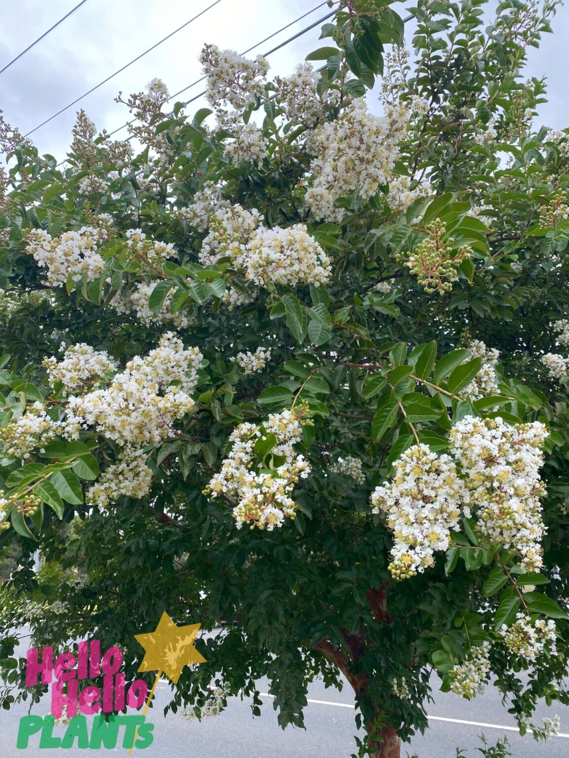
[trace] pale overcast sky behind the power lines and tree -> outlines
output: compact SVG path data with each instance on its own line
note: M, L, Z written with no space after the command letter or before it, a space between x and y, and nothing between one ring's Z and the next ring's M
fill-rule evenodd
M68 13L78 0L0 0L0 68L30 42ZM27 133L60 108L68 105L207 8L213 0L87 0L68 19L42 39L30 52L0 74L0 108L6 120ZM188 27L156 50L69 108L30 136L40 152L64 158L71 141L71 127L78 108L84 108L97 128L111 131L127 121L128 111L113 98L121 89L138 92L153 77L162 78L170 92L177 92L200 77L197 56L204 42L243 52L285 24L319 5L320 0L221 0ZM329 12L322 5L251 57L284 42ZM319 27L300 36L269 57L272 73L289 74L297 62L322 42ZM556 129L569 126L567 70L569 70L569 7L559 8L554 34L545 35L542 47L532 50L528 76L547 76L549 103L540 118ZM184 92L189 99L203 83ZM190 105L193 111L203 105ZM374 108L375 110L375 108ZM117 137L127 136L126 130Z

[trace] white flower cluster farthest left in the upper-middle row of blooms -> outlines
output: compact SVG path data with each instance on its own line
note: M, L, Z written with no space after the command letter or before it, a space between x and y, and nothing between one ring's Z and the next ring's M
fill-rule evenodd
M69 277L74 281L83 277L92 281L102 274L105 261L98 251L108 240L110 216L98 218L100 224L96 227L64 232L55 239L42 229L30 232L27 252L40 268L47 268L49 284L62 287Z

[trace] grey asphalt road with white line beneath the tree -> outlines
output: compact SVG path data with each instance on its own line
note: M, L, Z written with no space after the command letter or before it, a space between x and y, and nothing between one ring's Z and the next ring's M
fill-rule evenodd
M259 685L266 692L263 683ZM350 758L355 750L354 709L351 691L346 686L338 692L325 689L322 682L310 685L306 716L306 731L278 727L272 699L263 697L265 707L261 716L253 719L250 701L234 698L219 716L188 722L180 716L162 709L168 702L168 684L161 682L156 691L156 706L149 711L147 721L154 723L154 741L143 753L145 758ZM569 756L569 708L539 706L538 716L561 716L561 733L564 737L551 738L546 743L536 742L531 735L520 738L514 720L501 706L500 696L492 687L471 702L451 693L435 691L435 703L429 706L429 730L417 735L404 745L402 758L417 754L419 758L455 758L456 747L467 751L468 758L480 758L478 735L483 732L492 743L508 737L515 758L567 758ZM42 705L42 704L40 704ZM36 706L33 713L44 714L45 707ZM10 711L0 711L0 758L75 758L84 756L84 750L49 750L38 748L38 738L30 738L27 750L16 749L17 728L20 716L27 713L25 704ZM451 720L446 720L451 719ZM452 720L454 719L454 720ZM539 722L535 719L536 723ZM476 722L469 724L465 722ZM505 727L511 727L511 731ZM63 736L64 726L54 729L55 736ZM105 753L126 753L122 747L105 750Z

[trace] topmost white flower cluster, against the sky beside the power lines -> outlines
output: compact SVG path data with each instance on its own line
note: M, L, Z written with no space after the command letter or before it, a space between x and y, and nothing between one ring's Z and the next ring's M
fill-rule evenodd
M204 46L200 63L207 79L206 99L215 109L218 123L231 128L242 111L262 96L269 64L262 55L250 61L216 45Z

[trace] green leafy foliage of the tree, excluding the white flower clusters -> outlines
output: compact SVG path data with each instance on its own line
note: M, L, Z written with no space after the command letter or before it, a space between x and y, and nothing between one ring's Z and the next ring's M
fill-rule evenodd
M379 754L387 728L404 739L424 730L429 672L437 669L448 690L454 666L486 641L494 644L492 672L514 716L531 714L539 698L569 703L556 684L569 650L569 398L567 381L552 384L540 360L557 349L551 324L569 307L569 221L555 195L569 189L569 151L564 134L554 138L529 123L526 111L542 102L543 86L522 77L527 46L549 30L554 10L504 3L488 25L483 0L420 0L412 9L413 70L397 49L385 55L385 45L403 38L401 18L385 3L341 3L325 24L325 46L308 56L325 61L318 92L328 105L320 124L335 121L382 74L384 105L410 108L418 96L426 103L390 182L407 177L413 191L428 183L429 196L425 190L405 208L389 199L389 186L366 200L354 188L336 201L341 221L319 223L305 201L313 159L308 127L288 119L274 83L245 114L256 117L269 144L258 162L233 164L226 131L205 123L212 111L190 121L180 104L151 112L138 136L152 150L129 161L105 139L75 139L66 166L20 140L5 145L0 431L37 402L54 424L64 420L68 397L61 382L50 384L44 362L61 358L62 342L105 350L124 368L172 329L203 355L192 411L174 434L143 449L152 474L146 496L123 494L106 509L93 507L87 488L121 451L90 424L78 440L56 434L36 445L29 459L2 453L7 520L0 522L0 550L11 568L10 556L18 556L2 589L0 667L12 693L5 705L42 691L27 691L24 660L12 661L13 630L22 623L31 619L36 645L85 636L99 637L103 647L120 643L128 679L142 653L134 634L154 628L163 610L179 624L224 628L197 642L207 662L184 671L169 708L202 706L214 679L231 694L253 695L257 713L256 681L266 677L279 724L302 726L307 684L320 676L340 686L342 672L354 688L357 723L368 732L359 741L362 756ZM526 22L514 23L526 11ZM83 193L85 177L105 188ZM231 205L256 208L268 228L306 224L331 258L329 281L293 287L266 280L251 296L247 271L231 255L200 262L206 229L180 209L209 182ZM112 217L99 249L102 273L49 286L45 268L27 252L30 230L55 237L98 214ZM401 264L432 242L432 222L445 228L437 244L453 255L470 251L450 266L451 287L438 291L421 287ZM126 235L135 228L172 252L159 265L135 259ZM148 318L115 309L117 297L151 283ZM229 293L250 297L231 309ZM473 340L501 354L495 390L479 397L465 391L483 366ZM248 374L238 356L259 346L271 349L270 359ZM296 445L311 474L294 487L294 518L272 531L236 531L231 498L203 490L231 451L238 424L258 426L291 407L310 421ZM394 581L393 532L372 512L370 493L392 477L410 446L445 453L448 431L467 415L549 428L544 567L528 575L515 550L464 519L432 568ZM269 433L253 444L263 471L282 465L277 443ZM347 456L362 463L362 481L334 471ZM36 574L38 547L44 563ZM64 615L52 610L56 601L65 603ZM501 626L520 609L534 621L557 621L555 652L546 650L536 667L501 644ZM404 678L408 697L393 694L395 678ZM479 750L509 754L501 743Z

